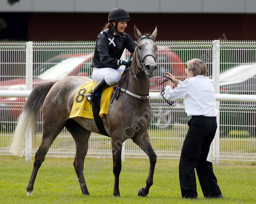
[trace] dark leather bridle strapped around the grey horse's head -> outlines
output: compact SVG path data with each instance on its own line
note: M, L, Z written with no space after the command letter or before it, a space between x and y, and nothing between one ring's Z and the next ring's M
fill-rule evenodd
M153 40L153 41L155 42L155 40L154 40L153 38L151 38L150 36L142 37L142 38L140 38L140 40L143 40L143 39L145 39L145 38L149 38L149 39L151 39L151 40ZM130 67L130 66L128 67L130 73L131 73L136 79L137 79L137 78L144 78L144 77L147 77L146 75L139 76L139 74L145 73L145 72L144 72L145 67L144 67L144 64L143 64L145 57L151 56L151 57L154 58L154 61L155 61L155 62L156 62L156 60L157 60L157 53L155 53L155 57L154 57L152 54L147 54L147 55L145 55L143 58L140 56L139 49L138 49L138 43L140 42L140 40L138 40L137 46L136 46L136 48L135 48L135 50L136 50L136 55L137 55L138 60L139 60L139 62L140 62L140 67L139 67L138 64L137 64L137 57L136 57L136 60L135 60L135 61L136 61L136 66L139 68L139 71L137 72L137 74L133 74L133 72L132 72L132 70L131 70L131 67Z

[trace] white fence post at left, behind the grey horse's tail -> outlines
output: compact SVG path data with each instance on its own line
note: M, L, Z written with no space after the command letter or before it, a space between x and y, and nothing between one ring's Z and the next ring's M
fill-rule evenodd
M32 90L33 88L33 42L29 41L26 43L26 90ZM31 161L31 150L32 150L32 135L26 141L25 156L26 161Z

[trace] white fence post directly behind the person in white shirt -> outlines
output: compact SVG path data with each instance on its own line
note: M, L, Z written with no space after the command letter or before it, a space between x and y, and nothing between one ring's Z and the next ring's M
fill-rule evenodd
M220 41L213 41L213 54L212 54L212 75L214 83L214 92L219 94L219 73L220 73ZM216 109L219 110L219 101L216 101ZM220 125L220 114L217 116L217 130L215 133L215 138L213 140L213 154L212 160L213 164L219 164L219 125Z

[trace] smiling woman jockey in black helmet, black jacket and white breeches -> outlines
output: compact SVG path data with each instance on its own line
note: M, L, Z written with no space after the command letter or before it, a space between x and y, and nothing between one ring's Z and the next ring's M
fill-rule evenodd
M87 100L94 106L95 94L118 83L124 68L121 65L131 65L131 60L120 60L124 49L134 52L136 44L131 37L124 33L127 21L131 18L125 9L116 7L108 15L108 24L98 35L94 57L92 79L98 84L86 95Z

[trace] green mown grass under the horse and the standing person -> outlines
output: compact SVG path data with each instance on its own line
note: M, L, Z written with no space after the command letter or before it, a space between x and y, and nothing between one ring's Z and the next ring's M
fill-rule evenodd
M96 166L97 159L86 158L85 167ZM26 186L33 161L25 161L25 157L0 156L0 203L55 203L60 197L65 198L65 193L67 202L62 200L60 203L256 203L255 162L232 161L214 166L224 198L204 199L197 182L197 200L181 198L178 164L179 160L158 159L154 185L148 197L141 198L137 191L145 186L149 160L126 158L120 175L121 197L117 198L112 195L112 159L98 167L90 179L86 178L91 195L84 196L79 189L72 195L67 193L67 185L73 185L77 180L73 158L46 157L38 171L33 196L27 196Z

